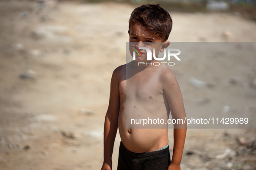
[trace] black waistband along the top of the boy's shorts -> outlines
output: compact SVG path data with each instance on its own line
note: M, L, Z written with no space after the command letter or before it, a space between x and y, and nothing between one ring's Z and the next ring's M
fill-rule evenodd
M120 142L120 149L126 152L126 154L129 154L133 157L148 157L148 156L155 156L155 155L160 155L160 154L165 154L166 152L169 151L169 145L167 148L159 150L159 151L152 151L152 152L143 152L143 153L135 153L132 151L129 151L128 149L125 148L123 145L123 142Z

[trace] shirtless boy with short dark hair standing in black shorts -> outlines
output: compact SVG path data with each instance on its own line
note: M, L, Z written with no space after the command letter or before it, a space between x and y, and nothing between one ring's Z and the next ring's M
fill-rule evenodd
M137 49L155 48L157 56L159 51L169 46L170 42L166 40L171 29L171 16L159 5L140 6L134 9L129 20L130 46ZM161 129L134 129L132 125L126 127L126 119L131 115L143 118L157 115L165 122L170 112L173 119L185 121L186 117L181 90L172 71L162 64L155 66L157 61L153 57L147 60L145 49L140 51L141 55L136 53L135 60L117 67L112 75L101 170L112 169L111 157L117 127L121 137L118 170L180 170L186 124L174 125L172 161L168 146L168 124L158 126ZM130 53L133 54L133 50ZM138 66L139 62L147 65Z

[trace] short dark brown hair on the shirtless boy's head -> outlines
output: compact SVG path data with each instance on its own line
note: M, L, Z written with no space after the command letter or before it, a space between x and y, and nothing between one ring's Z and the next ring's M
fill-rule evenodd
M129 19L129 29L135 24L142 25L163 41L168 39L172 31L172 18L159 5L147 4L135 8Z

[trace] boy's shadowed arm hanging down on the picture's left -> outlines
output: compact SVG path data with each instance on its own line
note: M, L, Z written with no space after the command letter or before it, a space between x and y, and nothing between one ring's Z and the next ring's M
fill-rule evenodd
M112 169L113 145L117 135L118 114L120 109L119 70L114 70L110 83L110 99L104 123L104 163L101 170Z

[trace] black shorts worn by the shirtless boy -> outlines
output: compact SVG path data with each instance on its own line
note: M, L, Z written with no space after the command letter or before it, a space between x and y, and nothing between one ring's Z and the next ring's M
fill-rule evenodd
M170 164L169 146L160 151L134 153L120 142L117 170L167 170Z

